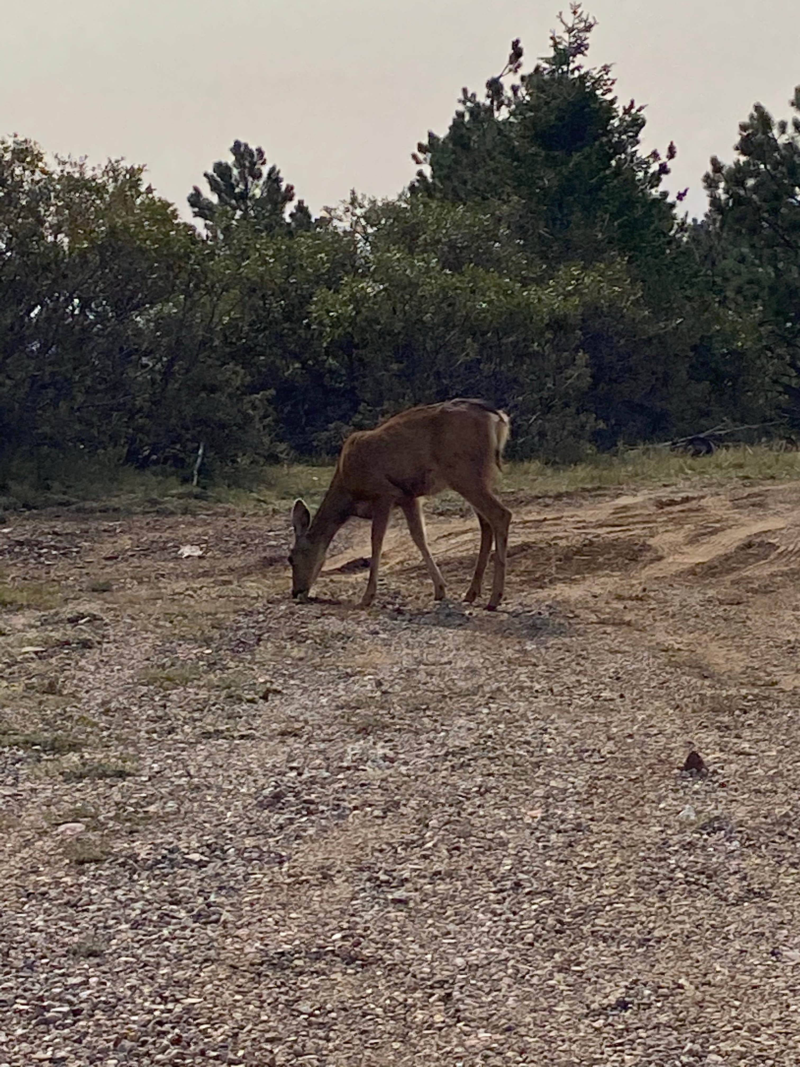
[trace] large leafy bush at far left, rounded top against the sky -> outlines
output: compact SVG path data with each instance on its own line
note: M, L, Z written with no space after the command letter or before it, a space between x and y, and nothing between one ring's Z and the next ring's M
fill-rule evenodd
M48 166L15 139L0 143L0 189L3 452L263 450L256 398L221 344L224 261L141 168Z

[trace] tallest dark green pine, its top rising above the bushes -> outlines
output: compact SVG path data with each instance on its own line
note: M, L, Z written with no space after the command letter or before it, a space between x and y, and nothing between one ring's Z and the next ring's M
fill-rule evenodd
M591 264L624 255L657 293L676 221L659 188L674 145L663 159L640 153L643 109L619 105L607 65L585 64L595 20L579 3L559 19L550 55L530 73L519 74L516 39L482 99L463 90L447 134L431 132L418 145L413 189L455 202L501 200L535 257Z

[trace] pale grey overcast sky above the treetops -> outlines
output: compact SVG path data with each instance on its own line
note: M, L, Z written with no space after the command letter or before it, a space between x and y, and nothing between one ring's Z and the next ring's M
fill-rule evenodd
M314 211L351 188L393 195L411 152L446 131L519 36L526 69L567 0L21 0L3 5L0 133L51 153L146 163L186 195L236 138L263 146ZM711 154L730 159L754 100L789 113L797 0L592 0L592 65L646 105L646 148L702 213Z

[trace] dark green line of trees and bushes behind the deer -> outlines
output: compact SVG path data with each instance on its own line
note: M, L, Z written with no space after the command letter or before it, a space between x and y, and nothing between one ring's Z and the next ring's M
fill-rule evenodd
M800 87L711 159L707 211L661 188L644 113L573 4L512 43L397 197L314 217L235 141L188 202L111 160L0 141L0 462L82 450L209 472L335 452L414 404L483 396L510 453L574 460L706 426L800 425Z

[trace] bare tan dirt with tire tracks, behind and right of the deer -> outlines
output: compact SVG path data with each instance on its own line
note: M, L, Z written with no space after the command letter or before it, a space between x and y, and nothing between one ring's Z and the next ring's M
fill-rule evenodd
M428 530L448 594L457 599L471 574L477 524L434 514ZM369 556L368 524L355 527L352 537L323 572L325 595L334 599L357 600L366 580L358 571L332 573ZM413 583L428 589L399 521L387 537L382 575L388 588ZM700 673L766 675L765 683L795 688L800 670L786 663L785 635L798 622L791 590L799 576L796 487L705 494L646 490L570 506L559 501L556 512L535 503L517 508L506 606L530 606L529 594L546 589L548 598L563 598L601 623L637 627L659 654ZM669 606L660 606L665 601Z

